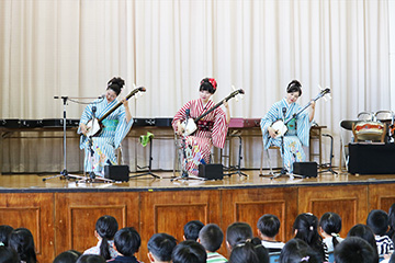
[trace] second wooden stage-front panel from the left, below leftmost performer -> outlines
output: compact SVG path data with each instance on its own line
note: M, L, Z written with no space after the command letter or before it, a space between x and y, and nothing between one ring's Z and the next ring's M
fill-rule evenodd
M98 243L95 221L103 215L116 218L120 229L139 230L138 193L57 193L56 254L75 249L83 252Z

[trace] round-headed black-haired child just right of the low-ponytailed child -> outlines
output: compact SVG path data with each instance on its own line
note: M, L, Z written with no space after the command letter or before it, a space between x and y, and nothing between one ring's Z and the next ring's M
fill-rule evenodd
M122 228L114 237L115 249L119 255L108 262L112 263L139 263L134 256L142 245L142 238L133 227Z

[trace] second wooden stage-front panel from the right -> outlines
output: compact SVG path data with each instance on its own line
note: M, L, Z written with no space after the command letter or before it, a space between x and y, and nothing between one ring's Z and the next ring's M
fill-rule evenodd
M368 186L317 186L298 190L298 214L313 213L318 219L327 211L340 215L341 237L356 224L364 224L368 211Z

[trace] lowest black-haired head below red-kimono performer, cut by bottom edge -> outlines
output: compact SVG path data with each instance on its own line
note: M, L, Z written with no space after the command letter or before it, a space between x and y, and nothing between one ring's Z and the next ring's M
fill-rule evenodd
M172 263L206 263L207 253L202 244L187 240L176 245L171 260Z

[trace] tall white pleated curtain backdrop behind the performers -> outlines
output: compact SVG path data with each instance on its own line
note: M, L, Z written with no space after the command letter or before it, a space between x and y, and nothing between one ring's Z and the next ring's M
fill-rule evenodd
M246 91L242 101L230 101L233 117L259 118L298 79L302 105L318 85L331 89L332 100L317 102L315 119L335 137L338 163L341 119L395 110L388 1L2 0L0 118L61 118L63 103L54 95L98 96L113 76L125 79L123 95L133 83L147 88L131 101L136 117L172 117L198 96L202 78L214 77L215 101L232 85ZM79 118L82 110L69 103L67 115ZM78 139L72 141L68 161L79 170ZM259 141L246 141L242 167L259 167ZM61 138L4 139L3 172L57 171L59 144ZM43 149L45 167L27 156L26 145ZM132 165L138 147L135 140L124 147ZM169 150L157 149L154 168L171 169L171 142L159 147Z

